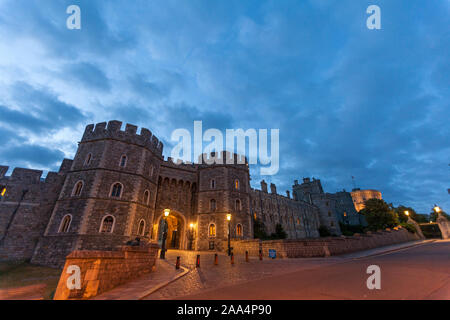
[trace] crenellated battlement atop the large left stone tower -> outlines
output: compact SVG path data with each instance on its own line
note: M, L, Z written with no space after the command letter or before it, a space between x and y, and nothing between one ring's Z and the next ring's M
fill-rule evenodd
M108 123L100 122L95 126L94 124L89 124L84 130L81 142L114 139L148 148L157 155L162 156L163 143L150 130L141 128L138 134L138 127L135 125L127 123L124 131L120 130L121 127L122 121L117 120L111 120Z

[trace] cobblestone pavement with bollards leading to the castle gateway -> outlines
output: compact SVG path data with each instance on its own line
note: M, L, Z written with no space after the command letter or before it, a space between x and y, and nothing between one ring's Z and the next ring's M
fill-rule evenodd
M197 254L200 254L200 268L195 267ZM218 253L219 264L214 265L214 253L211 252L169 250L166 253L166 259L171 263L175 263L177 256L181 258L181 265L191 269L191 272L147 296L146 300L175 299L209 289L343 261L338 257L276 260L265 257L263 261L258 257L250 257L249 262L246 262L243 255L237 255L232 265L227 255Z

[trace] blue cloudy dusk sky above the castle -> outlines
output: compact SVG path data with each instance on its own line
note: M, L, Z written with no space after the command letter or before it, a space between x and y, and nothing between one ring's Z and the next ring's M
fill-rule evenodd
M81 8L82 29L66 28ZM368 30L366 8L381 8ZM279 128L278 192L320 178L450 211L448 0L0 0L0 164L57 170L84 126ZM259 170L252 185L259 187Z

